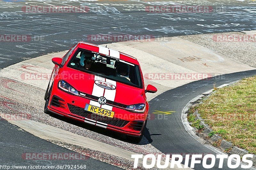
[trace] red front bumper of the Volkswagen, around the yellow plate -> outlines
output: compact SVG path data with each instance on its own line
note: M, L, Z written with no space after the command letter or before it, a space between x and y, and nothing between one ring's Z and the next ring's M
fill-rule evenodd
M60 96L63 96L63 98L61 98ZM59 99L59 105L56 105L56 98ZM50 102L47 108L52 113L65 116L76 121L85 122L88 124L110 129L130 136L139 137L141 135L145 123L145 116L147 116L146 112L145 114L135 114L130 112L125 113L128 111L121 108L113 107L113 111L115 111L115 115L113 118L114 122L113 120L111 120L111 118L99 120L93 117L93 115L95 116L96 114L87 113L87 111L84 111L83 108L86 103L89 104L90 100L85 99L83 97L68 94L66 92L59 90L58 88L55 88L55 90L52 91L52 96L50 98ZM77 110L79 110L79 112L74 112ZM78 114L82 112L84 112L84 115ZM97 115L97 117L103 116Z

